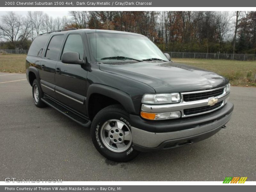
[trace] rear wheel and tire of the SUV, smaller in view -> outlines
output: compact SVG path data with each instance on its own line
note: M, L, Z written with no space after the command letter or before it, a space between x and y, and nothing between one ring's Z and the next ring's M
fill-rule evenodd
M43 108L46 107L47 105L41 100L44 97L44 93L40 87L40 84L38 81L35 79L32 84L32 95L34 99L34 103L36 107Z

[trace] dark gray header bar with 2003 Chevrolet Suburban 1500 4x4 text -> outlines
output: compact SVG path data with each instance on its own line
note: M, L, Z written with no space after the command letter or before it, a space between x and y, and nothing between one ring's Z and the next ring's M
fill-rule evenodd
M0 7L256 7L252 0L4 0Z

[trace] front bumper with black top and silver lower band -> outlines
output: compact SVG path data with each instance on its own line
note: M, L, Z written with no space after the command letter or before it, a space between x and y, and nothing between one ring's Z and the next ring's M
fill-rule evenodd
M233 108L234 105L228 102L209 114L161 122L145 121L130 115L134 149L161 150L204 140L220 131L230 120Z

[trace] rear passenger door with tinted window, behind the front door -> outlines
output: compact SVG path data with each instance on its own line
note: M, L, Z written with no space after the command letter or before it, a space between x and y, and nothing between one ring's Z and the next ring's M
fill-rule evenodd
M44 93L54 96L55 88L55 68L60 55L60 48L64 40L63 34L51 37L44 57L41 61L40 83Z

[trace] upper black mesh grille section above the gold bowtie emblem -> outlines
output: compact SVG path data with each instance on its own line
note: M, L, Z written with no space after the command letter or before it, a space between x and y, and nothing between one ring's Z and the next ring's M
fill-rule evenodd
M224 92L224 88L217 89L217 90L214 90L214 91L209 91L209 92L184 94L183 95L183 100L186 101L186 102L203 100L203 99L208 99L210 97L217 97L217 96L223 94L223 92Z

